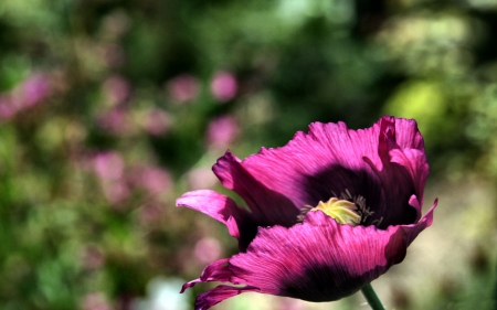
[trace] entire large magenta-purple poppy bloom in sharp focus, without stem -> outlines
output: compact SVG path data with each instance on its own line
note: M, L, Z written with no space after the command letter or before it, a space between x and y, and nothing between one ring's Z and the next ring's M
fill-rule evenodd
M409 119L385 116L361 130L314 122L309 133L243 161L228 151L213 171L248 210L208 190L178 199L239 239L237 255L183 286L239 285L198 296L197 310L246 291L308 301L350 296L404 259L436 206L421 216L429 164Z

